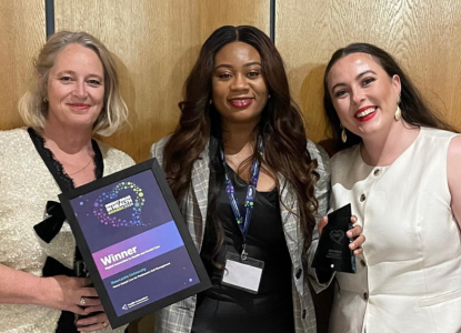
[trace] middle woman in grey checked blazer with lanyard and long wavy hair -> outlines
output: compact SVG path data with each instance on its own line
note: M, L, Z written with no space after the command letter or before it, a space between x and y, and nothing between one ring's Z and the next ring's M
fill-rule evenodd
M279 52L253 27L219 28L184 93L151 155L213 286L160 311L156 332L317 332L303 263L327 212L329 159L305 139Z

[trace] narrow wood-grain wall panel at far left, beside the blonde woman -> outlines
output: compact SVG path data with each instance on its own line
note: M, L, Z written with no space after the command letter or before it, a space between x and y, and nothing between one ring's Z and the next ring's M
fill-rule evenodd
M18 101L32 78L33 58L46 41L43 0L0 0L0 130L23 125Z

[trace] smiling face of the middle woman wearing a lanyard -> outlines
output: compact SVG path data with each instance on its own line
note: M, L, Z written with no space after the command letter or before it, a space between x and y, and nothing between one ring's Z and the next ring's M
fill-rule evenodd
M214 56L212 99L223 122L258 122L268 98L261 57L253 47L232 42Z

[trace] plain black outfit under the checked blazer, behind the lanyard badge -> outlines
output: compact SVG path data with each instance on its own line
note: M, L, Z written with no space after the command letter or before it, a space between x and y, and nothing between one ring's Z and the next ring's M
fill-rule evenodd
M227 169L235 195L242 204L248 184L231 168ZM217 198L217 216L224 231L224 243L218 262L224 265L227 252L241 253L243 238L223 185ZM192 332L294 332L291 259L284 239L277 189L257 192L247 236L248 255L264 262L258 294L221 284L223 271L212 263L216 242L214 225L209 216L200 255L212 287L198 295Z

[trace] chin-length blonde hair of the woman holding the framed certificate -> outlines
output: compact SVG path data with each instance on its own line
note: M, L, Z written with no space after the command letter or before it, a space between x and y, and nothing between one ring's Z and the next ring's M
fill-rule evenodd
M60 31L52 34L34 61L33 87L19 101L19 113L27 125L42 132L48 117L48 77L58 54L69 44L80 44L93 50L104 69L104 102L93 124L93 134L108 137L127 121L128 108L119 91L116 62L101 41L87 32Z

